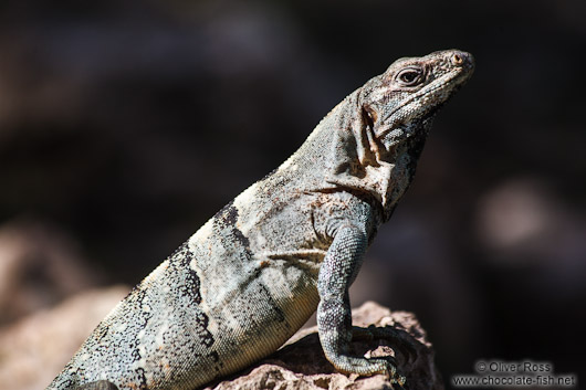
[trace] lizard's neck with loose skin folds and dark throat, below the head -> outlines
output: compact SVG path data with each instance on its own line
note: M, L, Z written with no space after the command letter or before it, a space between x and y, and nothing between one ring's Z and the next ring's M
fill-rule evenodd
M384 140L375 139L359 94L355 91L334 107L278 170L299 178L304 191L364 193L379 203L387 220L411 182L427 131L411 129L414 137L388 150Z

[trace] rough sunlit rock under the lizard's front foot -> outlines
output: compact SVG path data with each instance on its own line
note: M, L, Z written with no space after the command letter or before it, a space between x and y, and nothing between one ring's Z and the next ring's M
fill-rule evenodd
M433 362L433 349L426 333L411 313L395 312L367 302L353 310L353 324L359 327L395 329L398 342L374 339L353 342L355 352L372 357L390 357L398 371L406 376L410 390L441 390L443 383ZM360 378L336 372L325 359L317 336L317 327L297 331L279 351L254 367L206 390L231 389L399 389L386 376Z

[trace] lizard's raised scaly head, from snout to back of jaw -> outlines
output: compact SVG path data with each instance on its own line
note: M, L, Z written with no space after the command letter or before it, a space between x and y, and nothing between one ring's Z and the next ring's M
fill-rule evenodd
M459 50L395 61L362 88L359 102L374 138L386 151L408 138L425 138L433 115L473 70L472 55Z

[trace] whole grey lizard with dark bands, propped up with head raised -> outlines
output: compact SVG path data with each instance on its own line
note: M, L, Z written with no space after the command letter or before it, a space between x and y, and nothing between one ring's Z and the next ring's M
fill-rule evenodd
M315 310L335 369L402 386L391 361L349 354L348 288L473 68L459 50L404 57L349 94L134 287L46 389L196 389L272 354Z

